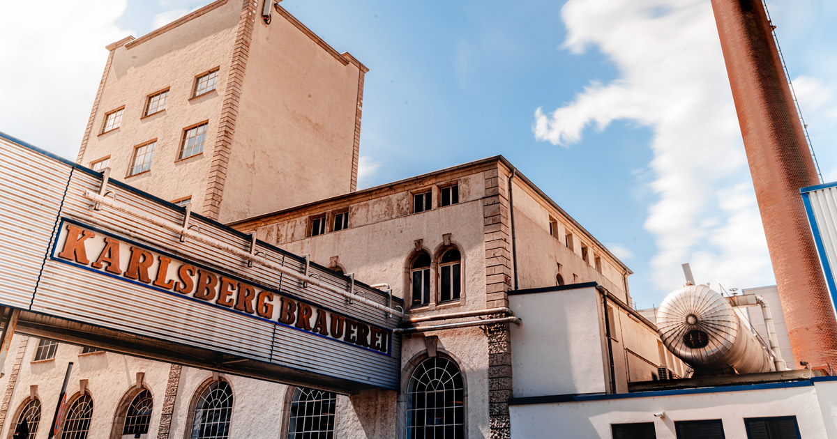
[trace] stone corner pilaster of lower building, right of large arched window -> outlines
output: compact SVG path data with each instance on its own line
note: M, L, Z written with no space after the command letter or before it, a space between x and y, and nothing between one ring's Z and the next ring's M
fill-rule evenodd
M485 236L485 302L488 308L509 305L511 229L508 178L499 169L485 171L482 200ZM501 317L501 314L490 317ZM488 396L491 439L511 436L511 337L508 324L488 326Z

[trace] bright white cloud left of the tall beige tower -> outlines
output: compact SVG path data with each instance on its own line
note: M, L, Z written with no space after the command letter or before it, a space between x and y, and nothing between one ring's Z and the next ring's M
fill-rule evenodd
M0 130L74 160L126 0L0 3Z

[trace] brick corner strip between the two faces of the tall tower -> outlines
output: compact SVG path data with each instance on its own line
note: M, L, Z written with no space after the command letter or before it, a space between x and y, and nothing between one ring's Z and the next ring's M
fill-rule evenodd
M218 121L218 135L215 137L212 164L209 168L206 196L203 198L203 216L218 219L221 212L223 186L227 181L227 167L229 155L233 146L235 121L239 117L239 100L244 84L244 69L247 67L247 56L250 41L253 39L253 23L256 18L256 2L244 0L241 6L239 28L235 34L233 60L229 66L227 85L223 92L223 106L221 120Z

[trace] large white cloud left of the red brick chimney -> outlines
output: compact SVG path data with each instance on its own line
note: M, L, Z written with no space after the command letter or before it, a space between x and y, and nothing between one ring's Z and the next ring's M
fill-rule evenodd
M773 283L752 182L732 103L711 4L704 0L569 0L564 47L595 47L619 78L592 81L551 113L537 109L538 140L568 146L593 126L631 120L651 130L651 189L657 200L644 227L655 238L655 292L696 278L725 287Z

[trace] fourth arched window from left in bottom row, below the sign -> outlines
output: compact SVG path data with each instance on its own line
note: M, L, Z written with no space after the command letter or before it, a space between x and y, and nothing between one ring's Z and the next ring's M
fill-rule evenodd
M233 412L233 390L227 381L213 381L195 406L192 419L192 439L227 439L229 416Z

